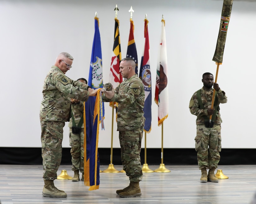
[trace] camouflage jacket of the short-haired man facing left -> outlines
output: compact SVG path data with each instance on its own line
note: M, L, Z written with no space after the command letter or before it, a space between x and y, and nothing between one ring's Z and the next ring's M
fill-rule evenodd
M115 95L108 99L102 95L104 101L114 101L118 103L117 110L117 130L135 130L144 127L144 99L145 92L141 79L137 74L133 75L119 84L115 89Z

